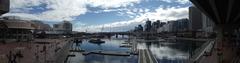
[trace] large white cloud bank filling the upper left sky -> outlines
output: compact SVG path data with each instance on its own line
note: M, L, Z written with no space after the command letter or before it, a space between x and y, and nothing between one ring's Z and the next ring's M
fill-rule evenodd
M85 14L88 9L87 5L92 7L100 7L104 12L110 12L110 8L133 6L140 0L11 0L11 11L7 15L29 15L32 7L46 5L46 11L31 14L29 18L45 20L45 21L62 21L74 20L73 17ZM20 15L20 16L22 16ZM24 17L24 16L23 16Z

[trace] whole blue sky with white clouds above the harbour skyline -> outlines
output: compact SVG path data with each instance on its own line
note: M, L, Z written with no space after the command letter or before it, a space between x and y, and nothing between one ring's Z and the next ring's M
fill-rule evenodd
M146 19L163 22L188 18L189 0L10 0L10 12L50 25L64 20L79 32L114 32L144 25Z

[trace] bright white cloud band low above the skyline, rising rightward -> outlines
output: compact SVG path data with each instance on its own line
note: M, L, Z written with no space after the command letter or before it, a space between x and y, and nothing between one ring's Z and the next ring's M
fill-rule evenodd
M141 13L132 20L118 21L118 22L107 23L102 25L77 27L77 31L88 30L91 32L101 32L103 27L104 27L104 30L103 30L104 32L110 31L110 29L112 31L127 31L130 29L133 29L138 24L144 24L147 18L153 21L156 21L156 20L169 21L169 20L176 20L181 18L188 18L188 7L184 7L184 8L171 7L167 9L163 9L162 7L159 7L155 9L154 12Z

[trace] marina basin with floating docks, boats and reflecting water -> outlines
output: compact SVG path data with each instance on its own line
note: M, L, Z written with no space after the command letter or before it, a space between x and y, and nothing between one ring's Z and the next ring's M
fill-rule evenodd
M75 57L69 57L67 63L75 63L75 58L85 58L84 60L78 60L81 62L114 62L115 60L110 60L111 58L122 58L118 59L121 61L129 61L129 60L136 60L133 62L123 62L123 63L186 63L189 60L189 53L187 52L190 49L188 45L182 45L186 48L179 49L178 47L174 47L176 45L181 44L165 44L161 41L159 42L136 42L134 39L131 41L127 41L127 39L102 39L105 43L96 44L88 42L87 39L84 39L83 42L78 45L74 46L73 48L79 48L79 50L84 51L72 51L72 54L76 55ZM156 40L157 41L157 40ZM161 45L165 44L164 46ZM191 43L191 42L189 42ZM200 42L201 43L201 42ZM120 47L121 45L129 44L132 47ZM149 45L147 45L149 44ZM114 45L114 46L113 46ZM91 47L90 47L91 46ZM164 49L162 49L164 48ZM172 49L173 48L173 49ZM175 48L182 50L181 52L176 50ZM185 52L184 52L185 50ZM157 52L158 51L158 52ZM176 52L174 54L170 52ZM159 54L161 52L161 54ZM172 56L174 55L174 56ZM92 57L92 58L89 58ZM105 58L109 59L108 61L99 61L96 58ZM123 59L124 58L124 59ZM127 59L128 58L128 59ZM175 60L172 60L175 59ZM77 63L77 62L76 62Z

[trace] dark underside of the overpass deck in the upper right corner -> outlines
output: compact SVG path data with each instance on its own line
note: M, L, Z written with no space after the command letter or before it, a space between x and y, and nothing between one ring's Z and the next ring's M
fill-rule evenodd
M240 0L190 0L216 26L238 28L240 26Z

